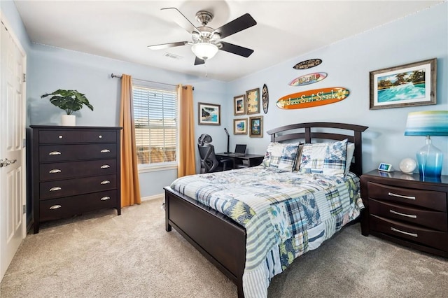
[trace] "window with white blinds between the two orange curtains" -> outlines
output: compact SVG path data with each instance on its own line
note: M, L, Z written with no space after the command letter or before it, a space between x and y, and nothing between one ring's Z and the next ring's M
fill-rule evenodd
M139 169L176 166L176 87L132 86Z

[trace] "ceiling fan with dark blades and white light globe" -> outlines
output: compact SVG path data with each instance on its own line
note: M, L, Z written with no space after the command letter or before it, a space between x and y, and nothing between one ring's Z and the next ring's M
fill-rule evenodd
M225 52L231 52L242 57L249 57L253 50L249 48L244 48L239 45L234 45L232 43L226 43L221 41L221 39L235 34L239 31L247 29L249 27L255 26L257 22L248 13L237 17L235 20L224 24L218 29L213 29L207 27L207 24L213 20L214 15L205 10L200 10L196 13L196 20L200 22L202 26L196 27L188 18L181 13L177 8L169 7L162 8L175 9L177 10L186 20L178 20L178 24L191 33L191 38L193 41L179 41L175 43L162 43L159 45L148 45L151 50L160 50L164 48L173 48L180 45L191 45L191 50L196 55L195 65L204 64L206 60L211 59L216 55L218 50L223 50Z

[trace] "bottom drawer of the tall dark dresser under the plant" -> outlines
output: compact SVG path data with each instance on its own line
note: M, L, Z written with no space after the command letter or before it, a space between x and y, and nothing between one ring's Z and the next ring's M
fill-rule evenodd
M40 201L40 220L55 220L100 208L116 208L117 190Z

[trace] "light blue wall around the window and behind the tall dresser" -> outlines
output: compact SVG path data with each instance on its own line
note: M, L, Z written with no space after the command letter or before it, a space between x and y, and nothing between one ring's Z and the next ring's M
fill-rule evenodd
M27 94L27 115L31 125L60 125L64 111L50 104L41 95L57 89L75 89L83 92L94 106L94 111L83 108L74 113L79 126L118 126L120 110L120 79L111 78L111 73L130 74L133 78L167 84L193 85L195 119L197 103L221 104L227 109L227 90L222 82L186 76L162 69L88 55L60 48L34 44L29 59L29 92ZM204 127L196 123L197 137L203 133L217 135L221 127ZM224 131L222 132L224 133ZM222 138L214 140L217 148L223 147ZM197 162L199 169L199 162ZM176 170L140 173L142 197L162 193L162 188L176 178Z

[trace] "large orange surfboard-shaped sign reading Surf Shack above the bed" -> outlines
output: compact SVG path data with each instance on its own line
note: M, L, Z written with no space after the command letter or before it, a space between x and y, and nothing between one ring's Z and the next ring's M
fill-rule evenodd
M279 108L287 110L295 108L310 108L311 106L323 106L334 104L346 99L350 94L344 87L330 87L304 92L297 92L281 97L276 103Z

